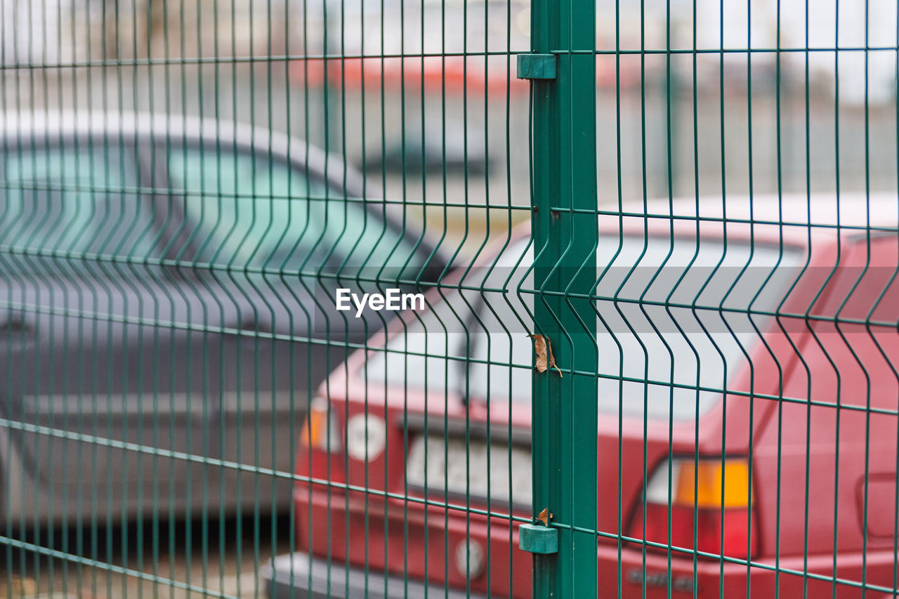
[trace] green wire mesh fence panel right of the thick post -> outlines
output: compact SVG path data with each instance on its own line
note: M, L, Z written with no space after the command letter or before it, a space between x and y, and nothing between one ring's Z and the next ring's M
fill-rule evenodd
M894 596L895 3L596 9L599 596Z

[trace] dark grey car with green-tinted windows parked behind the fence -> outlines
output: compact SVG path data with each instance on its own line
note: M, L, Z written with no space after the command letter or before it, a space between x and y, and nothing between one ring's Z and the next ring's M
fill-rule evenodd
M0 522L288 506L311 390L384 322L334 287L441 253L269 130L7 112L0 141Z

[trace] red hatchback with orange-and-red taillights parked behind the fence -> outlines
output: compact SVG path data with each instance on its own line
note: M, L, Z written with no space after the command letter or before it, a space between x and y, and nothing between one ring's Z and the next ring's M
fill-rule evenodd
M732 197L700 219L695 201L600 218L600 419L574 451L599 458L601 596L895 586L897 205ZM263 574L271 597L530 597L512 518L536 516L532 376L556 376L532 374L535 251L515 232L318 390L298 552Z

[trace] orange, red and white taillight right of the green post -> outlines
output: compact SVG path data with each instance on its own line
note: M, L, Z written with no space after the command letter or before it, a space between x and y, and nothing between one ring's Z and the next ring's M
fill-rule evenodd
M665 460L649 478L645 504L638 506L629 536L729 558L752 558L758 550L758 523L751 478L749 462L743 459Z

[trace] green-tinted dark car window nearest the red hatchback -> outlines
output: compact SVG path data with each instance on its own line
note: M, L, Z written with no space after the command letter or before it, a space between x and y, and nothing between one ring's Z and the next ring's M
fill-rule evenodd
M422 265L378 214L262 153L173 148L168 171L202 261L309 272Z

